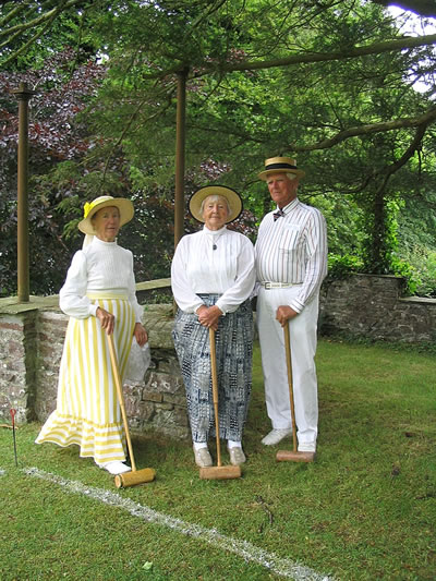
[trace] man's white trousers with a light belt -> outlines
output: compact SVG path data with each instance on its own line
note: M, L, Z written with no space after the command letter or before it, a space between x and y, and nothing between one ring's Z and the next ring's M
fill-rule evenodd
M265 401L272 427L292 426L283 328L276 320L278 306L287 305L300 287L264 289L257 296ZM315 368L316 330L319 298L316 295L289 322L292 386L299 444L316 443L318 433L318 389Z

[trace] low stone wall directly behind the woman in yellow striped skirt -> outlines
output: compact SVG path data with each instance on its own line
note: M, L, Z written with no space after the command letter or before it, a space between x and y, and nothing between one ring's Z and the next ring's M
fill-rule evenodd
M11 302L10 302L11 303ZM5 305L0 300L0 419L44 422L56 407L58 373L68 316L57 296ZM2 307L3 305L3 307ZM172 304L145 305L152 363L141 383L123 386L133 432L155 429L175 438L190 435L184 386L171 339Z

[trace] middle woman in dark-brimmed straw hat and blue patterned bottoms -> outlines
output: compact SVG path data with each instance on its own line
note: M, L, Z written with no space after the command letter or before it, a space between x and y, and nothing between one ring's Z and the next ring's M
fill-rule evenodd
M216 331L219 384L219 434L227 439L230 461L245 462L242 432L252 385L254 249L243 234L228 230L242 211L230 187L202 187L190 211L204 227L179 242L171 266L171 286L179 306L173 340L186 389L195 462L213 464L207 447L215 434L210 378L209 328Z

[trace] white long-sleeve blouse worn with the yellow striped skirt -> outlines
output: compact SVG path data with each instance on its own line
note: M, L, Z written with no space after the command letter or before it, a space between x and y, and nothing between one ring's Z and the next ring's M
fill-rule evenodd
M63 313L75 318L95 316L98 305L87 294L95 296L126 295L141 323L142 307L136 299L133 254L117 244L97 237L84 250L77 251L71 262L66 280L59 292Z

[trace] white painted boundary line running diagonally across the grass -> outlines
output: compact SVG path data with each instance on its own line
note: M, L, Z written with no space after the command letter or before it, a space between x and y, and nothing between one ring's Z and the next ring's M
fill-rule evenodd
M126 510L133 517L140 518L146 522L160 524L186 536L204 541L214 548L233 553L234 555L242 557L245 561L256 562L281 577L293 579L294 581L334 581L332 577L317 573L310 567L278 557L274 553L268 553L246 541L239 541L219 533L216 529L205 529L198 524L190 524L162 512L157 512L147 506L134 503L130 498L123 498L120 494L105 491L104 488L85 486L81 482L66 480L57 476L56 474L51 474L50 472L39 470L38 468L23 469L23 472L29 476L59 484L70 493L81 494L106 505Z

